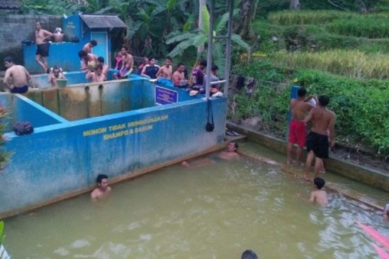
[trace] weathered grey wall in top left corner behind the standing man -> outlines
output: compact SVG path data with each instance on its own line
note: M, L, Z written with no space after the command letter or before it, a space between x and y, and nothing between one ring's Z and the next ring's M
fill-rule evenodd
M24 39L35 41L35 22L41 22L42 28L53 32L62 27L62 17L54 15L0 15L0 62L4 57L12 56L16 64L23 64L22 43ZM0 70L5 70L0 66Z

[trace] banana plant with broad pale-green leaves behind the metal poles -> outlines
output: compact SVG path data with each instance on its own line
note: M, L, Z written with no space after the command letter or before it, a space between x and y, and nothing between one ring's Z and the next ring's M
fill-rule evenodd
M181 32L174 31L168 34L165 37L166 44L178 43L175 48L169 52L168 55L175 57L177 55L182 55L184 50L190 47L197 48L199 45L207 43L208 33L210 31L210 13L207 10L206 6L202 8L202 17L203 17L203 28L195 29L193 31ZM234 11L234 15L238 13L237 10ZM221 15L217 21L214 23L214 36L219 35L222 31L226 30L226 24L228 22L228 13ZM243 39L238 34L232 34L231 40L239 45L245 50L250 50L250 46L243 41ZM226 62L225 58L225 43L219 39L213 41L213 51L212 57L214 64L219 66L219 73L224 74L224 66ZM200 57L198 57L200 58Z

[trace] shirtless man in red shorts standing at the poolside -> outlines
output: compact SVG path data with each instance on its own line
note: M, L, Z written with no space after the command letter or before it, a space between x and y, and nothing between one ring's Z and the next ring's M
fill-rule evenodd
M316 97L313 97L317 100ZM296 149L296 165L301 164L301 154L303 153L303 147L306 145L306 124L304 118L306 113L313 109L315 106L306 100L306 89L300 88L297 90L297 99L290 100L290 111L292 113L292 120L289 124L289 140L287 144L287 164L292 164L292 148L294 144L297 144Z

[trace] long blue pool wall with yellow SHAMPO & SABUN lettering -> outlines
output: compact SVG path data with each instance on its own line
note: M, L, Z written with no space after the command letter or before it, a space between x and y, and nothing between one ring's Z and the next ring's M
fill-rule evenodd
M15 155L0 174L0 214L94 186L97 174L121 176L220 144L226 99L212 104L214 132L205 131L207 102L194 99L7 134Z

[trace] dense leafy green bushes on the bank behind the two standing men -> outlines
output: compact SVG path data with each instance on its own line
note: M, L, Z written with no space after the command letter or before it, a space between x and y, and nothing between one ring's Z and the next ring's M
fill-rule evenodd
M260 116L268 130L285 133L290 86L301 85L308 93L330 97L328 108L336 113L336 141L389 154L388 80L358 80L312 69L292 70L274 66L270 60L233 66L233 73L261 81L252 97L244 91L231 97L236 108L230 109L228 118ZM277 118L285 120L280 123Z

